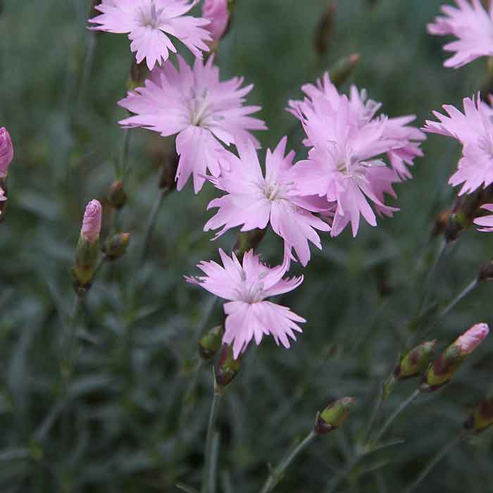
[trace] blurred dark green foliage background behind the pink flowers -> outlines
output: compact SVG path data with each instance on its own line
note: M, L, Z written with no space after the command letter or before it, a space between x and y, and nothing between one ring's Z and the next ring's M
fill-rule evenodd
M166 199L148 259L136 270L158 194L161 143L151 132L132 130L129 200L118 218L132 242L125 258L104 266L87 297L75 374L63 397L59 368L73 309L70 266L85 204L104 199L115 179L123 146L116 122L125 115L116 101L125 93L132 55L125 35L92 38L89 1L2 3L0 125L11 132L15 162L0 226L0 490L175 492L177 481L199 488L212 376L207 365L196 373L196 339L213 299L182 275L216 258L218 246L230 248L235 234L211 242L202 227L215 192L206 185L194 196L187 186ZM237 0L218 63L223 78L244 75L254 82L249 103L263 106L261 118L270 128L258 132L262 155L295 125L285 112L287 100L299 98L304 82L342 56L360 53L354 83L382 101L389 116L416 113L418 125L444 103L460 105L485 77L485 59L458 71L442 66L445 40L425 31L439 0L335 3L328 51L317 67L313 36L327 0ZM91 42L94 66L81 82ZM299 140L294 132L289 144L302 158ZM414 179L396 187L401 211L377 228L363 224L356 239L349 231L325 237L323 251L313 250L304 284L280 300L308 320L299 341L286 351L267 338L246 354L220 411L220 492L258 491L266 464L277 463L334 397L356 397L351 418L318 438L277 490L323 493L363 439L439 247L430 239L435 216L454 199L447 180L458 145L431 136L423 150ZM108 231L111 211L105 214ZM430 303L446 304L475 277L492 254L492 236L471 229L451 246ZM280 249L279 239L268 235L260 251L276 262ZM491 321L492 294L491 285L481 285L433 325L429 337L444 345L473 323ZM216 304L206 327L222 320ZM405 442L368 456L337 491L401 491L416 478L492 389L492 349L487 340L449 387L403 413L387 437ZM415 388L416 380L399 385L377 424ZM491 434L460 444L417 491L487 493L492 458Z

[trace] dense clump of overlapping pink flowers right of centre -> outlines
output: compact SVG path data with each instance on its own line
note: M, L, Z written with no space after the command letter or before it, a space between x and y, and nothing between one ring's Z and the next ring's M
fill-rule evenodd
M308 159L297 163L293 180L301 195L325 196L335 207L331 235L339 235L351 223L358 232L360 215L372 226L375 213L392 216L397 208L384 204L384 194L396 196L392 185L409 177L406 164L421 155L424 135L407 127L413 116L375 117L380 104L367 99L366 92L351 87L348 98L337 92L325 73L317 85L302 88L308 98L290 101L289 111L304 127ZM380 156L387 154L394 168Z

